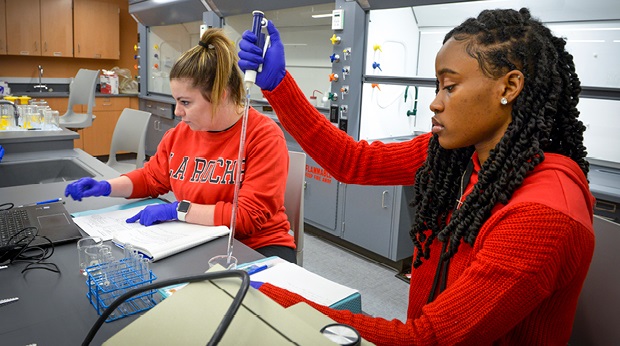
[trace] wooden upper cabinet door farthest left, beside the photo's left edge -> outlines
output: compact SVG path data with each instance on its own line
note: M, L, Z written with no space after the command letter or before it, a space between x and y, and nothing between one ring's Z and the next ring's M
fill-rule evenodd
M6 0L7 53L41 55L39 0Z

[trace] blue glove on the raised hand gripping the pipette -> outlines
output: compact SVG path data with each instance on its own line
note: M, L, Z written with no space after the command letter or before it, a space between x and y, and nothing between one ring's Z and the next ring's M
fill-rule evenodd
M286 74L286 61L284 60L284 45L280 40L280 33L271 21L267 22L267 32L271 36L271 45L262 56L262 47L255 45L256 35L250 30L246 30L239 42L239 68L243 72L246 70L258 71L258 66L263 64L263 69L256 75L256 85L263 90L272 91L284 78Z

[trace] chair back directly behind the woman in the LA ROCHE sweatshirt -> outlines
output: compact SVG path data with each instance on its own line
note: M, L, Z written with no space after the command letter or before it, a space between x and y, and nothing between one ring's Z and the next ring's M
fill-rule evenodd
M288 177L284 194L284 208L291 223L291 230L297 246L297 264L303 265L304 248L304 190L306 176L306 154L289 151Z

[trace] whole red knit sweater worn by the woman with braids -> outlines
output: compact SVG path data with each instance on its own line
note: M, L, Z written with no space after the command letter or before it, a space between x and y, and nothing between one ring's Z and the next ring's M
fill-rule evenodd
M264 94L284 128L341 182L411 185L426 159L430 134L356 142L305 100L288 73ZM431 258L411 273L406 322L310 304L378 345L566 345L594 251L594 198L575 162L545 156L509 203L494 208L474 246L461 244L446 290L427 304L441 248L433 244ZM468 187L478 180L474 162ZM260 290L285 307L304 300L270 284Z

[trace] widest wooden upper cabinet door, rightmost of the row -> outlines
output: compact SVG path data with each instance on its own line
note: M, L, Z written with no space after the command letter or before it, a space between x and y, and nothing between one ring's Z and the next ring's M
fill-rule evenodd
M120 59L120 8L103 0L73 1L76 58Z

